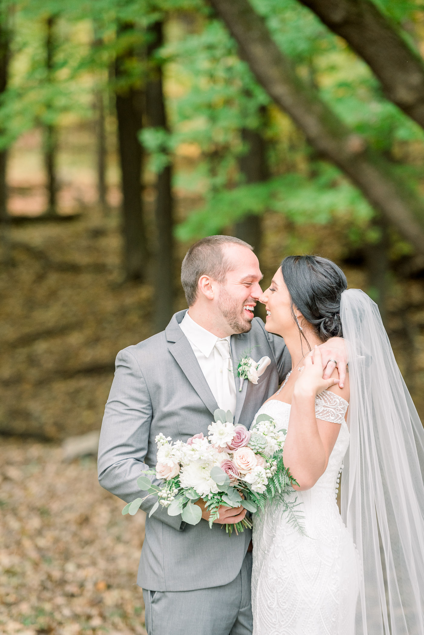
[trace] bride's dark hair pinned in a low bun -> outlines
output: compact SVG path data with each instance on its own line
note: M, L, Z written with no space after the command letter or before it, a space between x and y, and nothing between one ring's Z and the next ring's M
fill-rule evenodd
M288 256L281 263L281 273L293 305L320 340L342 337L340 298L347 279L340 267L321 256Z

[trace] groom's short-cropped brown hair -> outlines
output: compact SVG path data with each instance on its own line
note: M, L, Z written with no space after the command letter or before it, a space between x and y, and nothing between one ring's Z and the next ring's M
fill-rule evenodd
M201 276L210 276L219 283L225 281L232 262L223 253L224 244L241 244L253 251L251 245L234 236L206 236L192 244L181 265L181 283L189 307L196 301Z

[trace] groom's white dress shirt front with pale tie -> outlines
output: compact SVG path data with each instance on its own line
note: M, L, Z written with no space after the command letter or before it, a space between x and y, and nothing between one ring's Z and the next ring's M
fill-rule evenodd
M234 416L236 392L231 357L231 336L222 339L216 337L190 318L189 312L183 317L180 328L190 342L216 403L222 410L230 410Z

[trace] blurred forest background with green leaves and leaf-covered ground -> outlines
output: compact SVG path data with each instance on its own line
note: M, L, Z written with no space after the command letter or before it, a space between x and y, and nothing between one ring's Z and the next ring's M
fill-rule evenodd
M141 533L58 443L100 428L117 352L186 307L199 237L253 244L265 286L286 255L335 260L424 416L421 54L420 0L0 1L5 632L144 632Z

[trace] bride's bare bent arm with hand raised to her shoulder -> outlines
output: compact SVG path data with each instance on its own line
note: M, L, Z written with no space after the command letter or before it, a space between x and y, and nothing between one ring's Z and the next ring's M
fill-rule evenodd
M340 431L340 424L317 420L315 396L331 389L346 401L349 398L348 385L343 389L337 385L337 371L330 379L322 378L318 348L314 349L313 357L305 358L305 368L295 384L283 452L284 465L299 483L300 490L309 490L324 474Z

